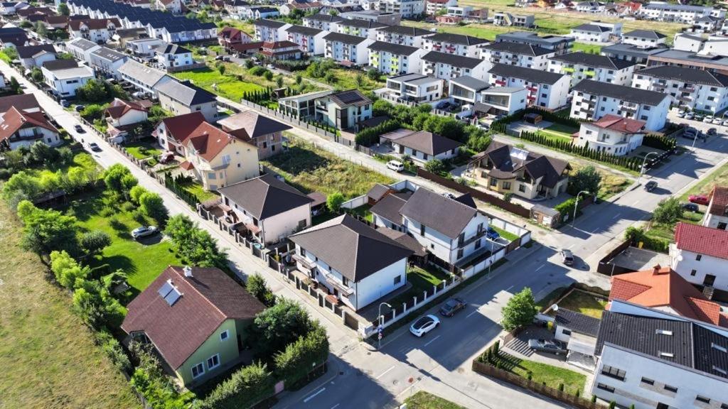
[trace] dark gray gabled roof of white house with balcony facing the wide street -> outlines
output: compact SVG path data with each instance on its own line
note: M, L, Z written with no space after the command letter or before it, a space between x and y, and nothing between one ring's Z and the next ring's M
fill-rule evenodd
M419 188L412 194L400 213L431 229L456 239L478 210L434 191Z

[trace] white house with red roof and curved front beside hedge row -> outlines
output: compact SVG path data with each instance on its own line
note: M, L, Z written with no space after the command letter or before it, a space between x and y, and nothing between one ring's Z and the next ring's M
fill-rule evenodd
M625 156L642 146L646 134L644 127L644 121L607 114L596 122L582 122L574 145L588 146L614 156Z

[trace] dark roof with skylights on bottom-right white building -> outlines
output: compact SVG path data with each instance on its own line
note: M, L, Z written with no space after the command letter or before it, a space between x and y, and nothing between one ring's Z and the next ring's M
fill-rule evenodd
M725 373L728 370L728 354L715 347L728 348L728 337L696 322L604 311L597 336L597 355L601 355L605 344L728 378Z

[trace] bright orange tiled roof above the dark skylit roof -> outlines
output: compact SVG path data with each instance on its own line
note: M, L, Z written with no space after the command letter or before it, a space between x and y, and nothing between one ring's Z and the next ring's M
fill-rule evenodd
M721 306L705 298L670 267L660 267L612 277L609 301L623 300L649 308L670 307L677 314L713 325L726 325Z

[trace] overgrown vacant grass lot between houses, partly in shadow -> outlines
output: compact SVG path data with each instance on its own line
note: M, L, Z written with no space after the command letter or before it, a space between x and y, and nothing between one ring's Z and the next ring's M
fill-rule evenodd
M379 172L354 164L298 138L290 139L288 151L261 161L280 173L288 183L326 196L339 192L348 199L366 194L374 183L393 183Z

